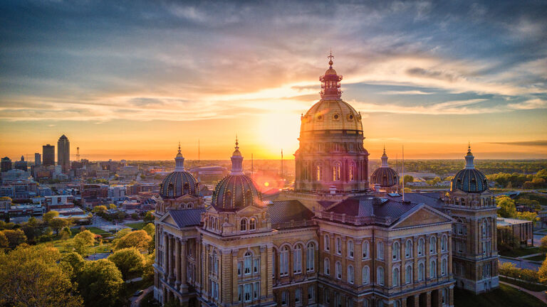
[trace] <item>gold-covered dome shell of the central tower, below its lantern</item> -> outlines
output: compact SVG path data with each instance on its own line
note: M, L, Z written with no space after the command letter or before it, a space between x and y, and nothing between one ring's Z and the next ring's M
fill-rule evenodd
M321 99L302 117L300 131L363 131L361 114L341 99Z

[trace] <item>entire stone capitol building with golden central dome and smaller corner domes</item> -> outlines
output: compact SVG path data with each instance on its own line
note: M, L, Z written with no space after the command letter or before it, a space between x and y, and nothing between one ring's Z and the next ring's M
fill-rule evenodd
M341 99L332 58L301 117L293 190L263 201L236 141L206 207L179 148L155 211L162 304L451 307L454 287L499 286L494 195L471 149L447 193L394 193L385 150L369 174L361 114Z

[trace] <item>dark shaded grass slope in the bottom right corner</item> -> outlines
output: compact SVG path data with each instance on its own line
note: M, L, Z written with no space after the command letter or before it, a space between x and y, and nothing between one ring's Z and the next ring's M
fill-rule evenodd
M545 307L538 298L504 284L489 293L473 293L454 288L454 307Z

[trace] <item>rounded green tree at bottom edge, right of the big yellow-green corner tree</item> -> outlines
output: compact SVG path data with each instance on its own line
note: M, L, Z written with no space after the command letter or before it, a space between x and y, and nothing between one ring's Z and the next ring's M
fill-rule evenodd
M85 262L78 276L78 289L86 307L121 306L122 273L108 259Z

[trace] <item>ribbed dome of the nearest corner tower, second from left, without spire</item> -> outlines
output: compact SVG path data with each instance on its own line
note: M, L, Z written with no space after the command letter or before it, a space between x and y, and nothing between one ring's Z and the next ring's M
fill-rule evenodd
M214 188L212 205L219 211L236 211L253 203L261 204L261 198L249 176L228 175Z

